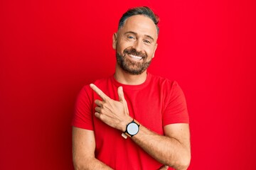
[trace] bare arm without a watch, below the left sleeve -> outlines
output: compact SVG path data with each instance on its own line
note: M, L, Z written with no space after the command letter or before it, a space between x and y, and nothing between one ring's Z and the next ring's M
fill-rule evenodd
M75 127L73 127L73 163L75 169L111 169L95 158L94 132Z

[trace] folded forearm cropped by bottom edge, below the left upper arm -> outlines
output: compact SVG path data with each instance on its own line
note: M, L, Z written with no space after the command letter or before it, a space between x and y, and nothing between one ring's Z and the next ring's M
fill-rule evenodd
M83 162L74 162L75 170L91 170L91 169L104 169L110 170L110 166L107 166L103 162L100 162L98 159L90 158L86 159Z

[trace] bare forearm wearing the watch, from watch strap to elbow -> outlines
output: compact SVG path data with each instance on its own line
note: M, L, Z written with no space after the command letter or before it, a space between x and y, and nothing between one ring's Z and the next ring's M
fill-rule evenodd
M158 162L174 169L188 168L191 159L190 148L175 138L158 135L141 125L139 133L134 135L132 140Z

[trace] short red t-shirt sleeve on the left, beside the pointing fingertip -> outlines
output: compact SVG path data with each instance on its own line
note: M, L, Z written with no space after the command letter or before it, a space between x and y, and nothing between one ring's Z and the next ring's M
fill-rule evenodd
M93 130L92 103L92 90L89 86L84 86L78 94L75 103L75 111L72 120L73 126Z

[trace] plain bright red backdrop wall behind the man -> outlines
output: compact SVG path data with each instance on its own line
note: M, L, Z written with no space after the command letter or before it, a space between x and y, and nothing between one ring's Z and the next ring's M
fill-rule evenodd
M189 169L255 169L256 1L0 1L0 169L73 169L84 84L114 72L122 13L150 6L149 72L175 79L191 118Z

